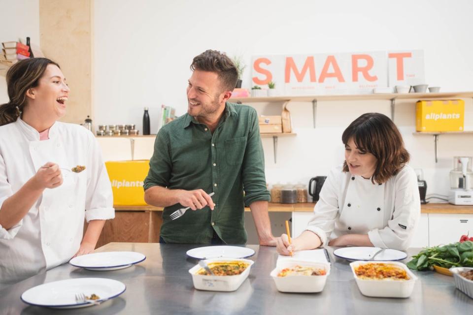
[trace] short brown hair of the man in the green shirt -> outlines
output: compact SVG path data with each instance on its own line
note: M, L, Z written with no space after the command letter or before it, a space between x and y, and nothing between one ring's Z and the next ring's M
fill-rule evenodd
M199 56L194 57L191 70L217 72L220 87L223 91L233 91L235 89L238 71L235 63L225 53L206 50Z

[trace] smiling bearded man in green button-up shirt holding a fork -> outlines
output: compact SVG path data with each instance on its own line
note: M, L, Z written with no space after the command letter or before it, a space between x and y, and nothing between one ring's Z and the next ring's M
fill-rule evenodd
M250 106L227 102L236 67L225 54L207 50L191 70L187 114L159 131L144 180L146 203L164 207L160 242L244 244L247 205L260 245L275 246L258 116ZM170 220L185 207L197 211Z

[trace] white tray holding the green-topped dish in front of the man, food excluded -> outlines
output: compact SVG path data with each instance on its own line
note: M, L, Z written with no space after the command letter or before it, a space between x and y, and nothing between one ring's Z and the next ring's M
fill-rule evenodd
M198 264L189 269L189 273L192 275L192 282L194 283L194 287L198 290L206 290L206 291L235 291L245 279L250 274L251 265L253 265L254 261L250 259L235 259L235 258L215 258L215 259L207 259L205 262L207 264L211 262L217 261L242 261L248 265L246 269L239 275L235 276L205 276L205 275L196 275L196 273L202 269L201 266Z

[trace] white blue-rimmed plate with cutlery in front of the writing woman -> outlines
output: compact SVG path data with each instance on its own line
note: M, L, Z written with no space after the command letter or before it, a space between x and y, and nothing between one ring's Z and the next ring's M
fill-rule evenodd
M334 251L334 255L349 261L371 260L371 254L379 248L375 247L344 247ZM386 249L376 255L376 261L398 261L407 257L405 252Z

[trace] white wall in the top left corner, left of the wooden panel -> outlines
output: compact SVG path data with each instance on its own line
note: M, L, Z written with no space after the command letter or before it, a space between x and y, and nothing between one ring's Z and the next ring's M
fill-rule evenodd
M0 8L0 46L19 39L25 43L27 36L39 45L39 0L0 0ZM6 102L6 81L0 76L0 104Z

